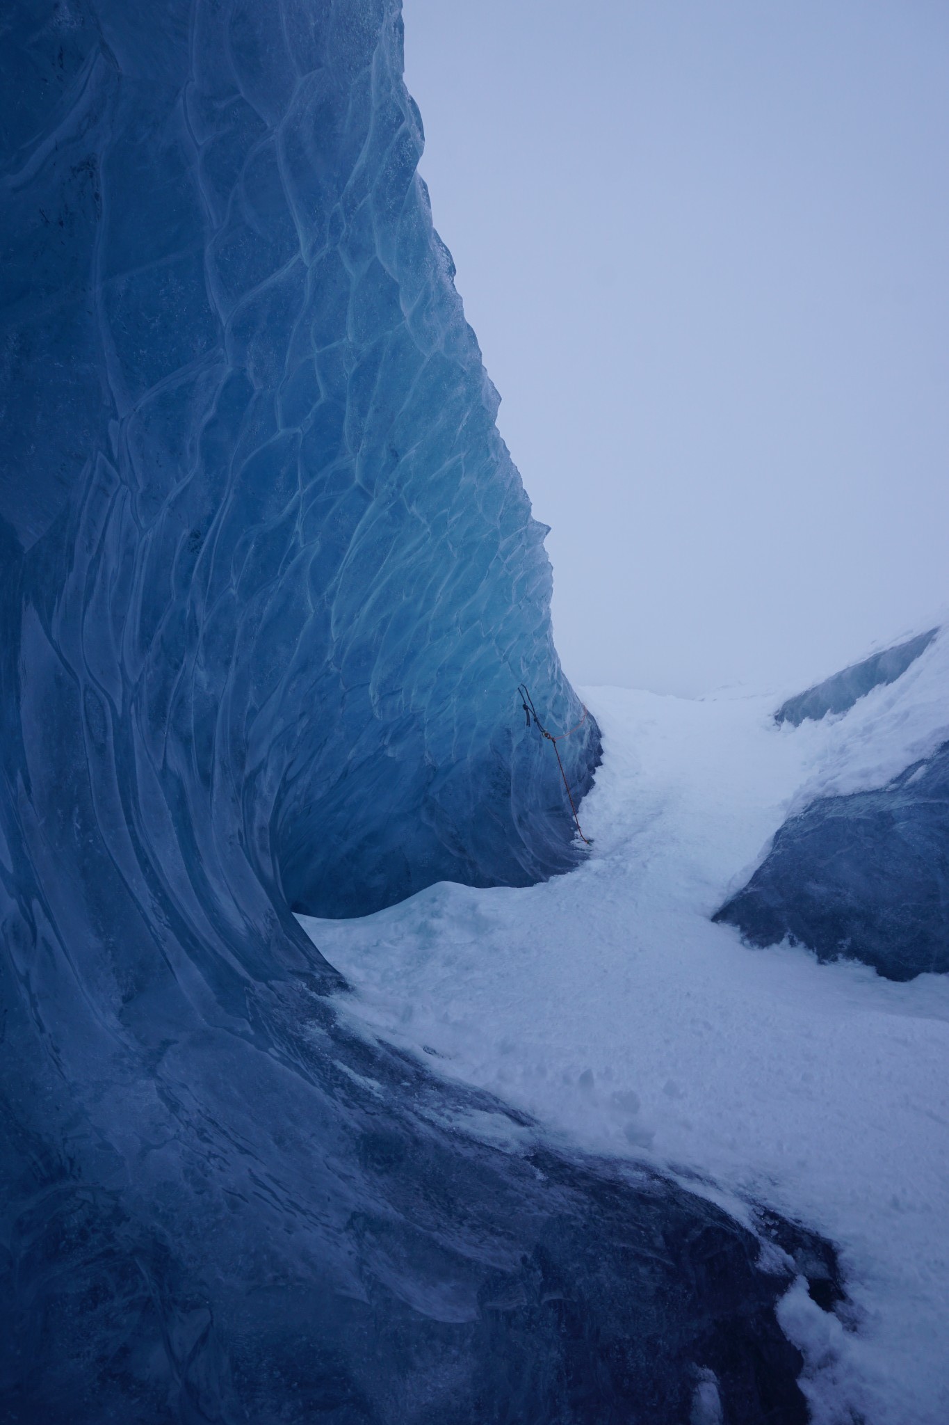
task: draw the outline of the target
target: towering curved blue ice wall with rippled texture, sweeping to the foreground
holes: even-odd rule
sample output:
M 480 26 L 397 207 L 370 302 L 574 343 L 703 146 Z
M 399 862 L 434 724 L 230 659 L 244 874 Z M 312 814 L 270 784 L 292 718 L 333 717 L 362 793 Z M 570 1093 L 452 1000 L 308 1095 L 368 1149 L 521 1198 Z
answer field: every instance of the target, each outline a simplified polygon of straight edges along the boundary
M 0 64 L 6 1415 L 802 1422 L 753 1233 L 356 1039 L 290 913 L 575 855 L 397 4 L 14 0 Z

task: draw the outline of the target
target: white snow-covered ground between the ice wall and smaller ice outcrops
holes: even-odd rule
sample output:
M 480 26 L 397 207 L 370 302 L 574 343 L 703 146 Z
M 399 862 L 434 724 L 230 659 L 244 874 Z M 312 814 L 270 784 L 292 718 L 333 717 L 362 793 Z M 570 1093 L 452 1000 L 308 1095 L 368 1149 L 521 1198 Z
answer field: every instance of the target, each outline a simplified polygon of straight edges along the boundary
M 949 985 L 748 949 L 709 918 L 791 809 L 882 785 L 949 738 L 948 690 L 945 634 L 898 683 L 798 728 L 775 727 L 775 697 L 590 688 L 605 757 L 576 871 L 300 918 L 354 986 L 337 1006 L 363 1033 L 561 1147 L 832 1240 L 844 1320 L 800 1281 L 780 1308 L 824 1425 L 949 1422 Z

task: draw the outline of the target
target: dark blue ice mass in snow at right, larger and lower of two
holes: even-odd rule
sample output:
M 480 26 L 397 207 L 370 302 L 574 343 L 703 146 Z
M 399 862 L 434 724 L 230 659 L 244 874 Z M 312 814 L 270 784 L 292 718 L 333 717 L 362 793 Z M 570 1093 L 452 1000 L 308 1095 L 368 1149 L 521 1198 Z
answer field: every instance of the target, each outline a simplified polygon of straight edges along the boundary
M 886 787 L 790 818 L 716 919 L 753 945 L 788 936 L 888 979 L 949 970 L 949 742 Z

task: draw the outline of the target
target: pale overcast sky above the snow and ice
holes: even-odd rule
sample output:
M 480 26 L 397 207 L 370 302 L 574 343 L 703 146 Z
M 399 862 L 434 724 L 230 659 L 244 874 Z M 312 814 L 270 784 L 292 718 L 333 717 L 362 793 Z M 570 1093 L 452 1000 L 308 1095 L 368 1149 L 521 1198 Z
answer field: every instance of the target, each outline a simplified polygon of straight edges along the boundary
M 566 671 L 791 691 L 949 601 L 949 4 L 404 0 Z

